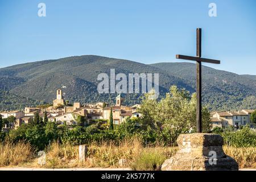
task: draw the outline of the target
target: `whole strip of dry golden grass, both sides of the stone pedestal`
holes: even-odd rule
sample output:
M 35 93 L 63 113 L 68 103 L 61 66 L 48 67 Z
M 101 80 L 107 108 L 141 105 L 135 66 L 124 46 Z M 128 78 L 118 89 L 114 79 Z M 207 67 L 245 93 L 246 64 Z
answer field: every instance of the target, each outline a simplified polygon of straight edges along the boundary
M 224 146 L 227 155 L 237 160 L 240 168 L 256 168 L 256 148 L 235 148 Z M 77 168 L 129 167 L 136 170 L 159 170 L 165 159 L 170 158 L 177 151 L 177 147 L 163 147 L 156 144 L 154 147 L 143 147 L 139 140 L 124 140 L 119 144 L 103 143 L 90 144 L 87 158 L 79 162 L 79 146 L 59 144 L 53 142 L 46 149 L 46 165 L 43 168 Z M 122 166 L 120 159 L 125 159 Z M 0 143 L 0 167 L 41 167 L 35 150 L 24 142 L 13 144 Z

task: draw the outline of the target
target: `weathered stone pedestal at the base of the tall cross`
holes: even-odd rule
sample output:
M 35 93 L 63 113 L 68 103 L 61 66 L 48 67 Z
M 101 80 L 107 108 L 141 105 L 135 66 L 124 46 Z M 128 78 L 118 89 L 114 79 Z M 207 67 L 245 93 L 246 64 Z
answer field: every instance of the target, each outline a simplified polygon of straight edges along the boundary
M 236 160 L 222 149 L 223 139 L 217 134 L 181 134 L 179 150 L 162 165 L 162 171 L 225 171 L 238 170 Z

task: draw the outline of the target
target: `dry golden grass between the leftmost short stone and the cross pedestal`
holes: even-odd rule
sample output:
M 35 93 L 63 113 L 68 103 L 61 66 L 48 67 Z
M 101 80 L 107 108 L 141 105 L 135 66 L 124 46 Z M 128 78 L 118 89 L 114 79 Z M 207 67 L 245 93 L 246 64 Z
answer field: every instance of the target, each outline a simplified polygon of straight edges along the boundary
M 160 166 L 162 162 L 170 158 L 177 151 L 177 147 L 143 147 L 138 139 L 124 140 L 120 144 L 113 142 L 105 142 L 100 145 L 92 143 L 88 146 L 86 160 L 80 163 L 78 158 L 78 146 L 70 144 L 61 145 L 52 143 L 47 152 L 46 167 L 51 168 L 70 168 L 70 167 L 120 167 L 118 162 L 120 159 L 125 159 L 126 163 L 122 167 L 138 166 L 137 163 L 143 166 L 142 163 L 147 163 L 147 159 L 151 160 L 152 165 L 144 165 L 142 168 L 136 169 L 154 169 Z M 139 160 L 142 158 L 143 160 Z

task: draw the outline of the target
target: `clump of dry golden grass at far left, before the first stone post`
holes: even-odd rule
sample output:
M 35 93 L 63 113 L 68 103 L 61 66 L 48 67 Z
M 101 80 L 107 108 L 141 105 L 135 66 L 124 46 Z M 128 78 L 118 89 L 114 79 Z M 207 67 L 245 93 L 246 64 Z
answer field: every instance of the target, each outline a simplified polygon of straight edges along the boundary
M 14 144 L 10 141 L 0 143 L 0 167 L 17 166 L 29 162 L 34 158 L 34 154 L 34 150 L 28 143 Z

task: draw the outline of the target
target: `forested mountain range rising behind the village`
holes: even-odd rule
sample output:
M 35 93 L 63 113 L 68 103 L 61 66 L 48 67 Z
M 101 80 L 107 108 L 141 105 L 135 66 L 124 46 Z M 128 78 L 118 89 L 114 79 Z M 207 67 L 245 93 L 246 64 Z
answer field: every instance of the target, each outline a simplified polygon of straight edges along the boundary
M 142 64 L 135 61 L 85 55 L 36 61 L 0 68 L 0 110 L 22 109 L 52 103 L 56 89 L 64 99 L 82 104 L 114 103 L 117 94 L 98 94 L 97 76 L 125 73 L 159 73 L 161 96 L 171 85 L 195 92 L 196 65 L 193 63 Z M 210 110 L 256 109 L 256 76 L 237 75 L 202 67 L 202 96 Z M 125 94 L 126 105 L 139 103 L 141 94 Z

